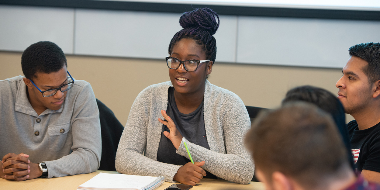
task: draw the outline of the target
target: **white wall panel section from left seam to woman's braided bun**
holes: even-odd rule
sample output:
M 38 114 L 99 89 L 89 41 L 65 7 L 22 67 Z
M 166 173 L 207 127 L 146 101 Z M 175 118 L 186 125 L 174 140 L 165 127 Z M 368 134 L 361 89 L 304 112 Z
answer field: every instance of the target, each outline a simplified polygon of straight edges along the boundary
M 180 15 L 79 9 L 75 54 L 165 59 Z

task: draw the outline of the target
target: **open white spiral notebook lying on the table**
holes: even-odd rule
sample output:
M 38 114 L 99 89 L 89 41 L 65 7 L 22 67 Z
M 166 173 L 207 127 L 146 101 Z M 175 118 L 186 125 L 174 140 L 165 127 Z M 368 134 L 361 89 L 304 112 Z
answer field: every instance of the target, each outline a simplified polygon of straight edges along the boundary
M 165 177 L 133 176 L 127 174 L 100 173 L 79 185 L 77 190 L 154 190 Z

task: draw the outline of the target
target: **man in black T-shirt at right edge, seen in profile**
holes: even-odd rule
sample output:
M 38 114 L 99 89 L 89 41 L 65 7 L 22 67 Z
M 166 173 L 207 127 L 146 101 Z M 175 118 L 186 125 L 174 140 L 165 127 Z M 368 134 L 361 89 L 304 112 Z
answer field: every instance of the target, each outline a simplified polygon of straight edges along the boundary
M 355 120 L 347 124 L 358 172 L 380 183 L 380 44 L 357 44 L 336 83 L 345 112 Z

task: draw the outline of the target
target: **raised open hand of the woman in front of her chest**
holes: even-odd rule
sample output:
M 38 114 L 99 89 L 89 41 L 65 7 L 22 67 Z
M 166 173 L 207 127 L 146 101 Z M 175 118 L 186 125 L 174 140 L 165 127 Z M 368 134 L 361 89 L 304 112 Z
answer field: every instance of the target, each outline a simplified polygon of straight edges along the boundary
M 169 128 L 170 133 L 168 131 L 164 131 L 164 135 L 173 143 L 174 147 L 176 149 L 179 149 L 179 145 L 182 141 L 182 135 L 179 133 L 179 131 L 176 128 L 176 124 L 174 124 L 173 120 L 166 114 L 166 111 L 161 110 L 162 116 L 164 116 L 165 120 L 162 120 L 158 118 L 158 121 L 162 124 L 166 125 L 166 127 Z

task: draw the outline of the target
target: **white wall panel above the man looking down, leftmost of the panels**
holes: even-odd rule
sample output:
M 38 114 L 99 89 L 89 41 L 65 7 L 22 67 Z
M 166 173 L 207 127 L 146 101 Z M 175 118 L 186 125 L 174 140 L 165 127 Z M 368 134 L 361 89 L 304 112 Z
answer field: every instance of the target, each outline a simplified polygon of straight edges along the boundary
M 24 51 L 52 41 L 73 53 L 74 9 L 0 5 L 0 50 Z

